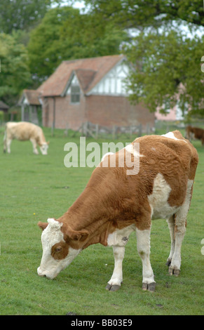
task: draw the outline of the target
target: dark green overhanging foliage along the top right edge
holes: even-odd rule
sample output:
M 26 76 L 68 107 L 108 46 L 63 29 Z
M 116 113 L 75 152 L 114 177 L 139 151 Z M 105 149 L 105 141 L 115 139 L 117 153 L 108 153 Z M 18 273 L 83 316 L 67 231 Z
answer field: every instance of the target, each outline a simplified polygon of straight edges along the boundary
M 90 5 L 90 11 L 126 28 L 158 26 L 172 20 L 204 26 L 200 0 L 85 0 L 85 3 Z

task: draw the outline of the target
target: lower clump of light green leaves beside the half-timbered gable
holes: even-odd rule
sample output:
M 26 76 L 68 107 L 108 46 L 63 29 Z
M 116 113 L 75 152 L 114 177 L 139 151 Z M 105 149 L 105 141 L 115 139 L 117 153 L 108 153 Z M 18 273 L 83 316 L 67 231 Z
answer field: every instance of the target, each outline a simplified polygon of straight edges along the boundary
M 134 46 L 124 49 L 134 67 L 127 81 L 130 100 L 144 102 L 151 111 L 158 106 L 165 112 L 177 102 L 183 111 L 203 109 L 203 41 L 175 31 L 136 37 Z

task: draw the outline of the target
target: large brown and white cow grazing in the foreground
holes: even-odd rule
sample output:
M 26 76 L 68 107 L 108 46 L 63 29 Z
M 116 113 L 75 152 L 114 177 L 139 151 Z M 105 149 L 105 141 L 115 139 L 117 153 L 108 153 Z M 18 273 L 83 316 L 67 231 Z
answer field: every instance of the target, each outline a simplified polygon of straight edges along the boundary
M 186 216 L 191 202 L 198 154 L 179 131 L 164 136 L 137 138 L 116 154 L 109 154 L 93 171 L 85 190 L 63 216 L 47 223 L 39 222 L 43 232 L 43 256 L 37 272 L 49 279 L 90 244 L 112 246 L 114 272 L 107 290 L 116 291 L 123 281 L 122 263 L 125 244 L 132 231 L 137 236 L 137 251 L 142 258 L 142 289 L 154 291 L 156 283 L 149 260 L 151 220 L 168 221 L 171 249 L 168 256 L 170 275 L 179 275 L 181 247 L 186 230 Z M 140 159 L 140 171 L 127 175 L 130 167 L 121 159 Z M 116 157 L 116 166 L 103 162 Z M 107 165 L 107 164 L 106 164 Z

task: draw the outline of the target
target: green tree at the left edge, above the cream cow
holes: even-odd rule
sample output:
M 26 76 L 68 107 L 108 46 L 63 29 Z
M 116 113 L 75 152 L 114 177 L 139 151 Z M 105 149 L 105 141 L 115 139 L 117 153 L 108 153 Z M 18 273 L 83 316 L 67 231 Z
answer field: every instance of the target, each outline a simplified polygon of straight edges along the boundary
M 13 105 L 20 91 L 31 83 L 25 46 L 11 35 L 0 34 L 0 98 Z

